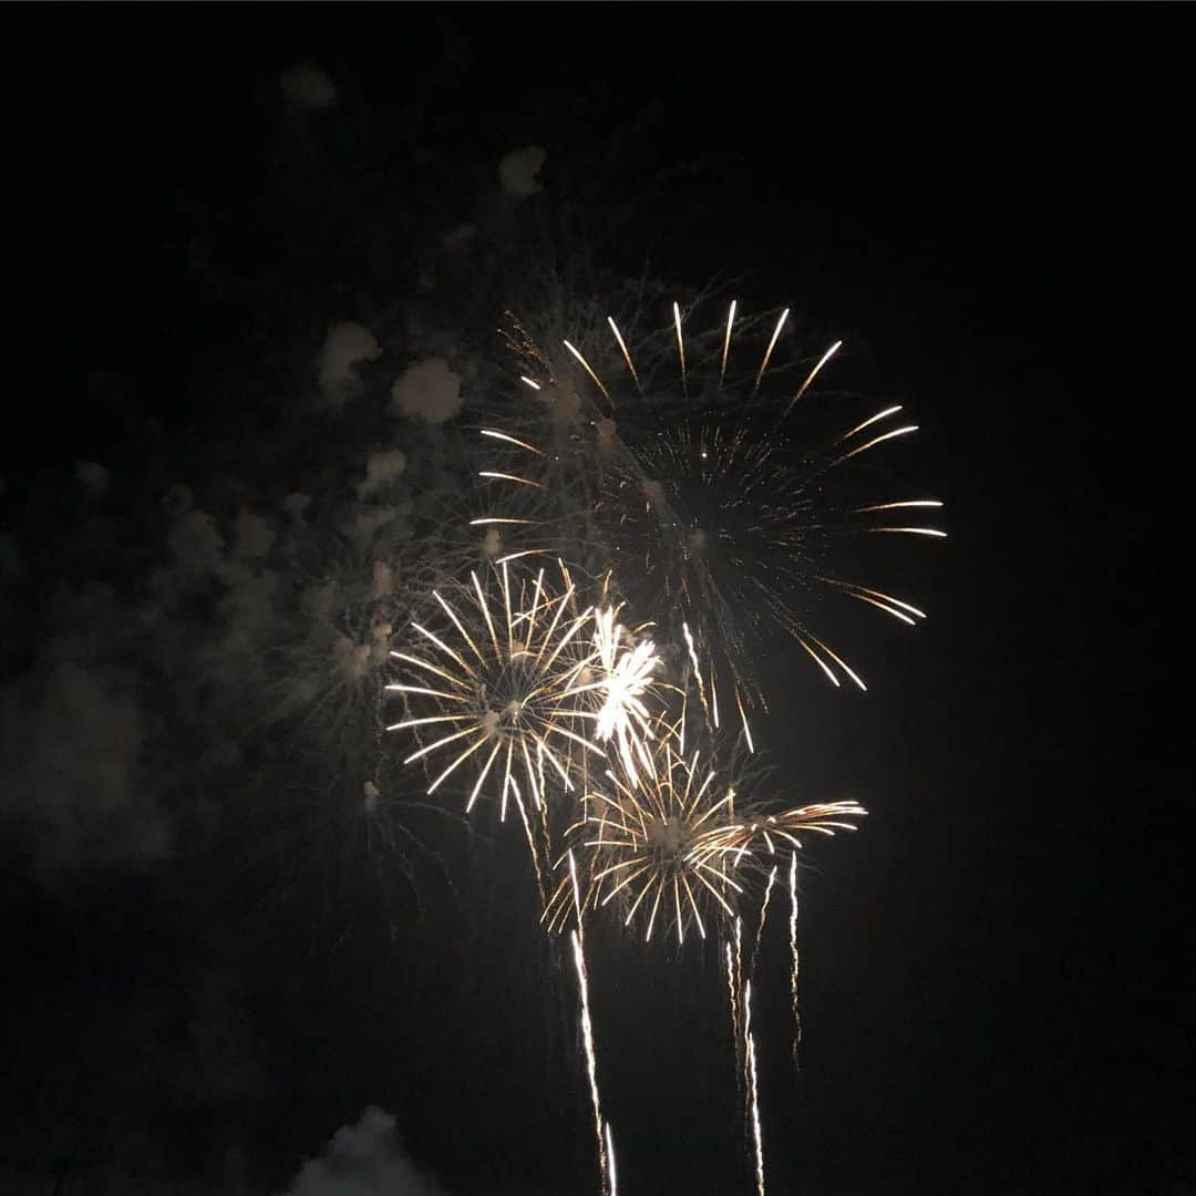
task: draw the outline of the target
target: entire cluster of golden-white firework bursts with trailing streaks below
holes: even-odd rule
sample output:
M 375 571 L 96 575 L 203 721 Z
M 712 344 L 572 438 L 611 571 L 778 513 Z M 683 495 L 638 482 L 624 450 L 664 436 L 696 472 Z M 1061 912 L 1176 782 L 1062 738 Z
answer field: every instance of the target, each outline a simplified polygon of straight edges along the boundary
M 719 941 L 764 1196 L 752 989 L 774 889 L 785 869 L 797 1061 L 798 855 L 813 836 L 856 829 L 866 811 L 787 807 L 763 783 L 750 718 L 767 709 L 761 647 L 783 634 L 834 685 L 865 689 L 814 629 L 820 604 L 835 596 L 907 626 L 925 618 L 844 557 L 877 537 L 942 537 L 919 518 L 941 504 L 861 488 L 861 463 L 917 428 L 890 405 L 836 414 L 829 431 L 810 409 L 840 344 L 788 364 L 788 310 L 749 319 L 731 303 L 697 335 L 676 303 L 655 332 L 578 311 L 548 312 L 536 332 L 508 313 L 500 329 L 511 386 L 494 389 L 463 447 L 472 490 L 451 517 L 429 517 L 441 529 L 427 538 L 433 617 L 413 621 L 411 642 L 390 653 L 401 676 L 388 689 L 403 714 L 388 730 L 416 739 L 404 763 L 427 770 L 429 794 L 451 782 L 466 812 L 483 795 L 501 818 L 518 810 L 542 922 L 572 945 L 609 1196 L 615 1143 L 598 1088 L 587 921 L 609 911 L 646 942 Z M 688 730 L 687 709 L 700 709 Z

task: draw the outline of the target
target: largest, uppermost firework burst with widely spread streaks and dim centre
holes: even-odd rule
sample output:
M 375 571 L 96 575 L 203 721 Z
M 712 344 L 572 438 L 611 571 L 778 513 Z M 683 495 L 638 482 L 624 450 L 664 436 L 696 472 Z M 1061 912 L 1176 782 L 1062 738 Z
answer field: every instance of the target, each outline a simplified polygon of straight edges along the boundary
M 925 617 L 903 599 L 849 580 L 837 561 L 841 551 L 877 532 L 944 535 L 904 518 L 940 507 L 936 500 L 861 502 L 850 496 L 856 478 L 848 477 L 848 466 L 916 431 L 893 426 L 899 407 L 856 421 L 813 448 L 794 431 L 793 409 L 838 344 L 800 380 L 783 383 L 777 396 L 792 373 L 773 364 L 788 315 L 786 310 L 771 323 L 763 350 L 750 359 L 736 335 L 746 337 L 751 327 L 737 322 L 734 303 L 716 336 L 689 338 L 673 304 L 671 358 L 663 354 L 659 337 L 645 338 L 645 358 L 633 354 L 609 319 L 603 370 L 566 342 L 573 378 L 545 373 L 523 379 L 532 393 L 588 388 L 581 405 L 594 413 L 585 421 L 585 543 L 602 547 L 640 610 L 667 633 L 684 636 L 708 722 L 720 726 L 721 707 L 731 703 L 749 739 L 748 710 L 764 704 L 752 652 L 776 633 L 792 636 L 835 685 L 846 677 L 865 688 L 812 629 L 823 597 L 843 594 L 909 624 Z M 758 322 L 752 327 L 758 329 Z M 533 368 L 560 370 L 545 354 L 521 352 Z M 537 459 L 547 453 L 531 440 L 511 440 L 525 453 L 523 476 L 549 489 L 537 472 Z

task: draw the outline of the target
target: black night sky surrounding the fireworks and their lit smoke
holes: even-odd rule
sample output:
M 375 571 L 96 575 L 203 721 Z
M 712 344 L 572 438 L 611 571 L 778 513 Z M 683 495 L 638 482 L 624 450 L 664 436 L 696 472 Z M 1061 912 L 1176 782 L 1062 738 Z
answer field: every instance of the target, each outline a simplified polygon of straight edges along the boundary
M 184 584 L 177 547 L 185 502 L 230 561 L 238 517 L 282 527 L 292 492 L 356 511 L 376 448 L 416 499 L 439 484 L 454 421 L 371 403 L 438 344 L 463 373 L 496 354 L 542 257 L 599 304 L 718 276 L 792 305 L 804 352 L 844 340 L 837 385 L 905 404 L 893 468 L 947 502 L 945 544 L 889 562 L 925 626 L 828 608 L 867 694 L 765 653 L 776 777 L 871 811 L 803 880 L 797 1075 L 765 941 L 769 1190 L 1196 1191 L 1168 18 L 10 14 L 0 1188 L 597 1191 L 574 978 L 518 834 L 413 805 L 397 769 L 365 812 L 353 749 L 309 750 L 327 712 L 263 730 L 303 646 L 248 591 Z M 527 146 L 518 197 L 499 164 Z M 337 414 L 317 374 L 343 321 L 384 352 Z M 752 1191 L 716 952 L 591 950 L 620 1191 Z M 390 1171 L 300 1183 L 371 1106 Z

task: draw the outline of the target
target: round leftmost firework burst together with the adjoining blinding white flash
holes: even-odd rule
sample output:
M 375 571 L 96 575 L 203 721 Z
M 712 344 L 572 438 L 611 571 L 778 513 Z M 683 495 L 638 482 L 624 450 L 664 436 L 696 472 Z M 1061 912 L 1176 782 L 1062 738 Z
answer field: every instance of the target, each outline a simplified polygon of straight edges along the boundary
M 502 562 L 484 576 L 472 572 L 447 599 L 433 591 L 440 626 L 413 622 L 419 648 L 391 652 L 411 681 L 388 688 L 411 712 L 388 730 L 431 737 L 404 763 L 447 761 L 428 793 L 472 762 L 466 811 L 489 783 L 505 817 L 508 801 L 538 810 L 551 785 L 573 789 L 582 758 L 604 758 L 603 740 L 626 759 L 643 755 L 637 737 L 647 731 L 655 658 L 616 610 L 581 609 L 560 562 L 551 573 Z

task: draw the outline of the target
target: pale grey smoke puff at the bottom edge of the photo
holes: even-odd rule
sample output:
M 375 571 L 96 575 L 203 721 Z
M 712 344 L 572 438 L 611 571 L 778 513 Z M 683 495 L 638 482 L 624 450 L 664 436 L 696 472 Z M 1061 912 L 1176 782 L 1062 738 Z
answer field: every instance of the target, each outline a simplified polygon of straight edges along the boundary
M 445 1196 L 395 1134 L 395 1118 L 371 1105 L 356 1125 L 343 1125 L 318 1159 L 303 1165 L 282 1196 Z

